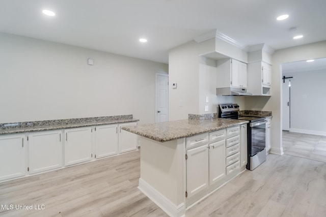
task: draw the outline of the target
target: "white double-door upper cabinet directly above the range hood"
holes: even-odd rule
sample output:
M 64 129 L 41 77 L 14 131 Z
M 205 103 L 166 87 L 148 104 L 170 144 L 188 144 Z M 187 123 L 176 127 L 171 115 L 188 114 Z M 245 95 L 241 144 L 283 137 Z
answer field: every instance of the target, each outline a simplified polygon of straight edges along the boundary
M 218 88 L 247 88 L 247 64 L 235 59 L 219 59 L 216 61 L 218 71 Z

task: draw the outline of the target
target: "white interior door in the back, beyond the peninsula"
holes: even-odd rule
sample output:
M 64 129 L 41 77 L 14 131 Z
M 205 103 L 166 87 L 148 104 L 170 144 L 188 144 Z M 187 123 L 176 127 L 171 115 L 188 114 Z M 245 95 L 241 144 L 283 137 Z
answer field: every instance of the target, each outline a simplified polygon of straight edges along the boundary
M 156 74 L 156 122 L 169 120 L 169 75 Z

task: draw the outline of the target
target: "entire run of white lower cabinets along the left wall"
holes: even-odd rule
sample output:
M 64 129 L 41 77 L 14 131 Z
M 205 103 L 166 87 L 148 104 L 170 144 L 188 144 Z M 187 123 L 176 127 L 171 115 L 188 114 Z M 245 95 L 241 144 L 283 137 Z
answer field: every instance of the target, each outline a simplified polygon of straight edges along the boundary
M 0 181 L 137 150 L 137 122 L 0 135 Z

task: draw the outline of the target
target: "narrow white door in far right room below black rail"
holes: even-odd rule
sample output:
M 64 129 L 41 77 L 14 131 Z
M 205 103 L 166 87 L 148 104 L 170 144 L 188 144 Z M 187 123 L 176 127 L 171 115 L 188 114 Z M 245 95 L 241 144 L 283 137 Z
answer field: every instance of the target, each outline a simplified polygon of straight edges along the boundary
M 283 84 L 283 128 L 282 130 L 290 130 L 290 80 L 285 80 Z

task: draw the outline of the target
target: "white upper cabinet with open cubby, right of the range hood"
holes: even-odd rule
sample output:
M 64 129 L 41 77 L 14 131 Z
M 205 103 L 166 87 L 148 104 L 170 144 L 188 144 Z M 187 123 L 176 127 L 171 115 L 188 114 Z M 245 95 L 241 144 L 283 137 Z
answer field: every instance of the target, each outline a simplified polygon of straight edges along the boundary
M 257 96 L 270 96 L 271 66 L 263 61 L 248 64 L 248 91 Z

